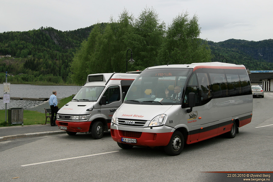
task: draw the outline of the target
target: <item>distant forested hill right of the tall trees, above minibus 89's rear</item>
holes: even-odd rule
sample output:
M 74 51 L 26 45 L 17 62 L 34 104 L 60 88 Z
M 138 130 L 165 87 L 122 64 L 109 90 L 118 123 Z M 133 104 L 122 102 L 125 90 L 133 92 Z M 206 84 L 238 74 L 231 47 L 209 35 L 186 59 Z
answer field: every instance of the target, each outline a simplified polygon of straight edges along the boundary
M 257 42 L 229 39 L 208 44 L 214 55 L 212 61 L 221 62 L 225 58 L 228 63 L 243 64 L 249 70 L 273 69 L 273 39 Z

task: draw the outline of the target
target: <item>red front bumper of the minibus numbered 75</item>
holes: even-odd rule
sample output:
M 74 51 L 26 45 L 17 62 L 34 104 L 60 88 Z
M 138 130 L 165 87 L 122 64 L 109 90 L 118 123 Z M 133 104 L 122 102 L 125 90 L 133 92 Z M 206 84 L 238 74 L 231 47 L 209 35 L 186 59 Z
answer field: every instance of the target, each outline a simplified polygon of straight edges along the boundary
M 91 121 L 86 122 L 65 122 L 56 120 L 56 125 L 66 126 L 67 130 L 71 132 L 88 132 L 90 128 Z

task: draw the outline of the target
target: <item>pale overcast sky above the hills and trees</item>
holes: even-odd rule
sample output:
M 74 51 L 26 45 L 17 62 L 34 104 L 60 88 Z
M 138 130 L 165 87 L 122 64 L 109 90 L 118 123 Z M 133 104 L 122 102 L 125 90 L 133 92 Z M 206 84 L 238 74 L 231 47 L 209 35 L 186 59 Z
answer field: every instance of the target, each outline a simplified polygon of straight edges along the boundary
M 0 0 L 0 33 L 53 27 L 67 31 L 118 20 L 126 9 L 137 18 L 153 8 L 170 25 L 179 13 L 199 18 L 200 38 L 272 39 L 273 0 Z

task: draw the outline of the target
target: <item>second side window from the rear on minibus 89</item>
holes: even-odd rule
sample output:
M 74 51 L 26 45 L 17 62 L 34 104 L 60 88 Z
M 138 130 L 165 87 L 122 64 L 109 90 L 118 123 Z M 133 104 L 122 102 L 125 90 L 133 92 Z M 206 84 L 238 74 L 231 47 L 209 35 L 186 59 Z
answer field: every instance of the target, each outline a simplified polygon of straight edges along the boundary
M 242 95 L 240 78 L 237 69 L 225 69 L 229 96 Z

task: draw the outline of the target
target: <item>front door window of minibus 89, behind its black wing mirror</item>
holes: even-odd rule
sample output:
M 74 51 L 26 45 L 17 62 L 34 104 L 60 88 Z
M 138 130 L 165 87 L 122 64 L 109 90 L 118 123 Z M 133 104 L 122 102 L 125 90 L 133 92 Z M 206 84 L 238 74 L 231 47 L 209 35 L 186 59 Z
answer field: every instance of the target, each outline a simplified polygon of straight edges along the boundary
M 186 89 L 185 97 L 183 99 L 184 100 L 183 104 L 185 105 L 185 107 L 187 107 L 189 93 L 191 92 L 195 93 L 195 106 L 200 105 L 199 88 L 197 86 L 197 78 L 195 73 L 190 78 L 190 81 Z

